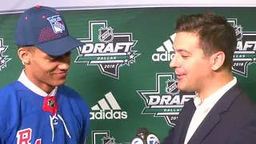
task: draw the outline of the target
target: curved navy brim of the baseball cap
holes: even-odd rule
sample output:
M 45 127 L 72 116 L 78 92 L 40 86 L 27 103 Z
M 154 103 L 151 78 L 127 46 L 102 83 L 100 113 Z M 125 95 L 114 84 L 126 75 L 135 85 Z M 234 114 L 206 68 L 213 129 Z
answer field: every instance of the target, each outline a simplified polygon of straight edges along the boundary
M 35 46 L 46 54 L 58 56 L 66 54 L 70 50 L 82 45 L 82 42 L 80 42 L 78 39 L 68 35 L 64 38 L 55 39 L 53 41 L 41 43 Z

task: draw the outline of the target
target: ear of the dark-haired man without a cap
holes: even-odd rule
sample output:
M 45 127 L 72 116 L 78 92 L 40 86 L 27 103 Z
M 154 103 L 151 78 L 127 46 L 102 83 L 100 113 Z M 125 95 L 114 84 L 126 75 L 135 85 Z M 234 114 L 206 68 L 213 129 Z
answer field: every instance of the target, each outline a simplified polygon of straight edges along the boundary
M 211 56 L 211 69 L 216 71 L 220 67 L 222 67 L 224 61 L 225 61 L 225 54 L 222 51 L 218 51 L 217 53 L 213 54 Z

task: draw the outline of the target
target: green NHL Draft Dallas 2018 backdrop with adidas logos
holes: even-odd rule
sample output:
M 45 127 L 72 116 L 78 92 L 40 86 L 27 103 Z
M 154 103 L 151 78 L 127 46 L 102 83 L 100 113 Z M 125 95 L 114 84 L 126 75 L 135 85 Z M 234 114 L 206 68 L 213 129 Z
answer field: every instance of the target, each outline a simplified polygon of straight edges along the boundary
M 234 26 L 234 76 L 255 100 L 254 8 L 138 8 L 63 11 L 70 34 L 84 42 L 72 51 L 66 85 L 90 106 L 91 144 L 130 142 L 142 126 L 162 140 L 194 93 L 176 87 L 172 58 L 175 19 L 213 11 Z M 0 87 L 16 80 L 22 63 L 14 46 L 18 14 L 0 15 Z M 200 73 L 200 70 L 198 70 Z M 214 84 L 213 84 L 214 85 Z

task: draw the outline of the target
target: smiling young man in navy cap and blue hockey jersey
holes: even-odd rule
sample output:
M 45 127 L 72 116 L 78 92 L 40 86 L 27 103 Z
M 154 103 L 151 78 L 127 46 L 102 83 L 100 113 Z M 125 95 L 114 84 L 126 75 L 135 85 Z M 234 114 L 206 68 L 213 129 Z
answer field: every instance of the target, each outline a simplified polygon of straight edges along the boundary
M 62 15 L 46 6 L 20 15 L 15 43 L 25 69 L 0 90 L 0 143 L 85 143 L 89 109 L 64 86 L 70 50 L 82 43 L 69 35 Z

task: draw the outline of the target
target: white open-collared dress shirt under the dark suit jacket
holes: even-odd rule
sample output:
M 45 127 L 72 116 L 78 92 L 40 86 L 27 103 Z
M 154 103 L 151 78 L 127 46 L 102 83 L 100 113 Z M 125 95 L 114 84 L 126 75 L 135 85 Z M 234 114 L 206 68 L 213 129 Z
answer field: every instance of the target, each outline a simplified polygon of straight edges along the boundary
M 184 144 L 187 144 L 187 142 L 189 142 L 195 130 L 198 129 L 198 126 L 201 124 L 203 119 L 206 118 L 206 115 L 210 112 L 211 108 L 216 104 L 216 102 L 218 102 L 218 100 L 222 98 L 223 94 L 225 94 L 226 91 L 230 90 L 230 88 L 236 83 L 237 78 L 234 77 L 231 82 L 227 83 L 221 89 L 214 92 L 214 94 L 211 94 L 208 98 L 204 100 L 204 102 L 201 102 L 201 98 L 198 94 L 194 96 L 194 106 L 196 106 L 196 110 L 194 112 L 193 118 L 191 119 L 190 126 L 187 130 Z

